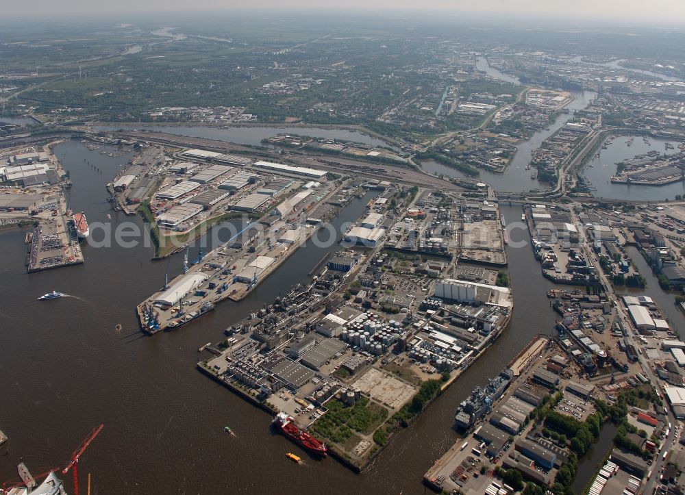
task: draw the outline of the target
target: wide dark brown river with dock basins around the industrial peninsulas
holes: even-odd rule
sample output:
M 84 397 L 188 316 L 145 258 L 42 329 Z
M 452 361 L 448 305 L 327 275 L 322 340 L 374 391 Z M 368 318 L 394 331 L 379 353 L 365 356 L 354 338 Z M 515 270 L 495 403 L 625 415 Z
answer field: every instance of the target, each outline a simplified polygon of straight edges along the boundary
M 126 157 L 106 157 L 77 141 L 55 151 L 73 179 L 71 207 L 86 212 L 91 223 L 104 222 L 110 212 L 105 183 Z M 358 218 L 369 197 L 353 201 L 335 223 Z M 511 225 L 521 215 L 520 207 L 503 205 L 502 212 Z M 124 219 L 142 227 L 137 217 L 112 212 L 115 225 Z M 164 280 L 166 263 L 151 262 L 151 248 L 86 245 L 82 266 L 27 275 L 24 235 L 25 229 L 0 233 L 0 390 L 11 405 L 0 424 L 10 436 L 0 479 L 16 476 L 20 456 L 35 472 L 62 464 L 103 422 L 105 429 L 79 463 L 82 480 L 92 473 L 97 494 L 301 494 L 315 486 L 330 494 L 422 493 L 423 473 L 457 439 L 451 429 L 456 405 L 536 333 L 549 333 L 555 320 L 545 297 L 553 285 L 541 277 L 530 246 L 508 248 L 512 322 L 458 383 L 396 435 L 363 474 L 308 456 L 303 466 L 292 466 L 284 453 L 299 452 L 297 447 L 270 431 L 268 414 L 197 372 L 197 348 L 218 342 L 225 327 L 306 279 L 325 249 L 308 243 L 244 301 L 225 301 L 197 322 L 149 338 L 139 331 L 134 308 Z M 529 240 L 523 229 L 510 238 Z M 171 276 L 181 264 L 181 255 L 171 258 Z M 70 297 L 36 301 L 53 289 Z M 119 333 L 116 324 L 123 326 Z M 225 424 L 236 437 L 223 433 Z

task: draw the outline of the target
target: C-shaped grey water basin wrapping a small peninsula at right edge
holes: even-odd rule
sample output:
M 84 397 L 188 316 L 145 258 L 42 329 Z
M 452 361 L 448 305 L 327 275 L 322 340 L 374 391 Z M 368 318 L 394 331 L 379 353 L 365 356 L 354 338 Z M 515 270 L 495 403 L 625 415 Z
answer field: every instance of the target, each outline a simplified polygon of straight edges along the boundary
M 628 146 L 627 140 L 634 138 Z M 589 179 L 595 187 L 593 196 L 607 199 L 626 199 L 633 201 L 661 201 L 674 199 L 676 194 L 685 194 L 685 183 L 682 181 L 665 184 L 664 186 L 636 186 L 618 184 L 610 181 L 616 174 L 616 164 L 623 162 L 636 155 L 644 155 L 649 151 L 658 151 L 661 155 L 674 155 L 680 153 L 677 141 L 647 138 L 649 144 L 643 141 L 642 136 L 616 136 L 611 144 L 606 144 L 607 149 L 599 150 L 599 157 L 593 157 L 584 167 L 582 175 Z M 674 149 L 666 149 L 665 144 L 671 142 Z

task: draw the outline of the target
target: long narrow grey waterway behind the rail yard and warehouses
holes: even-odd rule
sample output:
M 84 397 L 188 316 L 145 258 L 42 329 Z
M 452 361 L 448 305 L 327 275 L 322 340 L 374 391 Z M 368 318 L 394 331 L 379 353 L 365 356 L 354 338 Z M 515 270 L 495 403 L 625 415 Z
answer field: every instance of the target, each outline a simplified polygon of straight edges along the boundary
M 323 127 L 208 127 L 208 126 L 184 126 L 184 125 L 159 125 L 148 123 L 116 123 L 96 125 L 95 129 L 112 131 L 116 129 L 145 129 L 154 132 L 166 132 L 177 136 L 190 136 L 192 138 L 216 139 L 221 141 L 247 144 L 249 146 L 264 146 L 262 139 L 273 138 L 278 134 L 298 134 L 299 136 L 312 136 L 312 138 L 342 139 L 346 141 L 362 142 L 378 147 L 392 147 L 383 140 L 373 138 L 358 131 L 347 129 L 325 129 Z

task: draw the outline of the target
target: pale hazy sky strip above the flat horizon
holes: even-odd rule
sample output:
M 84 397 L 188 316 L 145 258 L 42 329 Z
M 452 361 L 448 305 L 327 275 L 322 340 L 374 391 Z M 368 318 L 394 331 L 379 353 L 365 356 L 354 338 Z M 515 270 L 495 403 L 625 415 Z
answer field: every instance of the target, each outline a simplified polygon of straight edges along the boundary
M 547 16 L 685 23 L 685 0 L 8 0 L 3 14 L 65 12 L 142 12 L 151 10 L 307 9 L 307 10 L 451 10 L 519 12 Z

